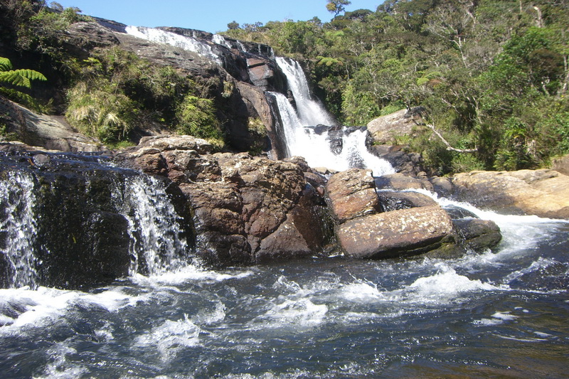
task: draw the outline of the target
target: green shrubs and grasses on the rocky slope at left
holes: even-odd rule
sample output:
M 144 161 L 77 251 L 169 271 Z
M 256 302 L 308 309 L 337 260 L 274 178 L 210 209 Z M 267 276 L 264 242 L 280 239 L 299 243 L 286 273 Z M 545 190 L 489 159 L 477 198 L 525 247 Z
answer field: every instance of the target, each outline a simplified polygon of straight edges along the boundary
M 50 6 L 41 0 L 2 2 L 0 22 L 11 33 L 0 38 L 39 67 L 53 71 L 61 91 L 55 95 L 64 100 L 56 106 L 65 109 L 70 124 L 108 146 L 125 146 L 137 129 L 160 124 L 223 148 L 224 136 L 214 102 L 206 95 L 207 83 L 198 84 L 174 68 L 153 65 L 116 47 L 90 49 L 88 58 L 78 58 L 65 46 L 65 31 L 73 23 L 92 19 L 77 8 Z M 26 80 L 45 79 L 34 70 L 8 69 L 9 60 L 0 60 L 0 70 L 6 71 L 0 73 L 0 81 L 27 85 Z M 230 94 L 230 83 L 226 87 Z

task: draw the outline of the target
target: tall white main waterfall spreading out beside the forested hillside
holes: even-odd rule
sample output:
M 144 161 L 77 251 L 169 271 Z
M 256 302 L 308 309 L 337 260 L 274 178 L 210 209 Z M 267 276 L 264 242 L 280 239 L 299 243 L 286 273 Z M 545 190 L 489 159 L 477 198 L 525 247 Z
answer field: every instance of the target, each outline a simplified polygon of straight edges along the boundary
M 365 128 L 325 127 L 333 125 L 334 121 L 321 103 L 310 95 L 307 78 L 299 63 L 282 57 L 276 60 L 287 77 L 297 106 L 294 110 L 285 95 L 267 92 L 267 96 L 275 99 L 289 156 L 303 156 L 309 166 L 337 171 L 357 167 L 371 169 L 373 176 L 395 172 L 388 161 L 368 151 Z

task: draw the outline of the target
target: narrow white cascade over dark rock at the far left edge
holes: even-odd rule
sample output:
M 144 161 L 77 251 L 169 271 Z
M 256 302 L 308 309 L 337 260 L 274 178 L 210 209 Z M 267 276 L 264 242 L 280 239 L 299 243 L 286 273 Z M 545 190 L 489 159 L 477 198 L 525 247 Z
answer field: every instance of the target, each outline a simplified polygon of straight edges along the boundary
M 23 171 L 7 172 L 0 181 L 0 253 L 4 255 L 0 255 L 0 269 L 4 263 L 5 287 L 37 287 L 35 203 L 33 176 Z

